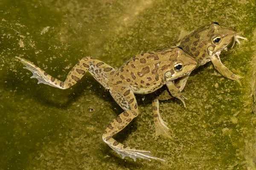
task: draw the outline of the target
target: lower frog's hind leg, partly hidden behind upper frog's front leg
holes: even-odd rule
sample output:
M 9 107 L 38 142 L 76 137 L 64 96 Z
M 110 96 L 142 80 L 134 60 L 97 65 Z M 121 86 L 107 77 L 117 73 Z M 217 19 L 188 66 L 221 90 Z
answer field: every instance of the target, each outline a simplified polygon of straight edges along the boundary
M 181 77 L 175 82 L 175 86 L 180 91 L 182 91 L 186 85 L 186 81 L 188 78 L 189 78 L 189 74 L 184 77 Z M 157 137 L 160 135 L 166 136 L 168 138 L 172 138 L 172 136 L 169 133 L 170 129 L 169 127 L 167 127 L 167 123 L 163 121 L 162 116 L 159 112 L 159 100 L 167 100 L 171 98 L 173 98 L 173 96 L 170 94 L 168 89 L 166 89 L 152 101 L 154 124 L 155 124 L 155 130 L 156 130 L 155 139 L 157 139 Z

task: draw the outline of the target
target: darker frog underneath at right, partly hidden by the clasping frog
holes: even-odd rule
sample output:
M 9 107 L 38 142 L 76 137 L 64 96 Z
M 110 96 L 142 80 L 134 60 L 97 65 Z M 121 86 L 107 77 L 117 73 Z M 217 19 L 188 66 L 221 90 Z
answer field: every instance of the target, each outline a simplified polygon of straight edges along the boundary
M 240 76 L 233 74 L 225 65 L 222 64 L 220 59 L 221 51 L 233 48 L 237 42 L 241 44 L 239 39 L 247 40 L 247 38 L 241 37 L 232 28 L 221 26 L 217 22 L 213 22 L 206 26 L 193 31 L 191 34 L 185 36 L 180 40 L 178 45 L 183 50 L 191 55 L 197 61 L 197 68 L 207 62 L 212 62 L 215 69 L 224 77 L 235 80 L 241 85 Z M 186 81 L 189 78 L 189 74 L 176 79 L 175 86 L 182 91 L 186 85 Z M 159 112 L 159 100 L 166 100 L 172 98 L 172 95 L 167 90 L 161 91 L 160 95 L 152 101 L 154 123 L 155 123 L 155 139 L 158 136 L 163 135 L 169 138 L 173 138 L 169 133 L 169 127 L 167 123 L 163 121 Z

